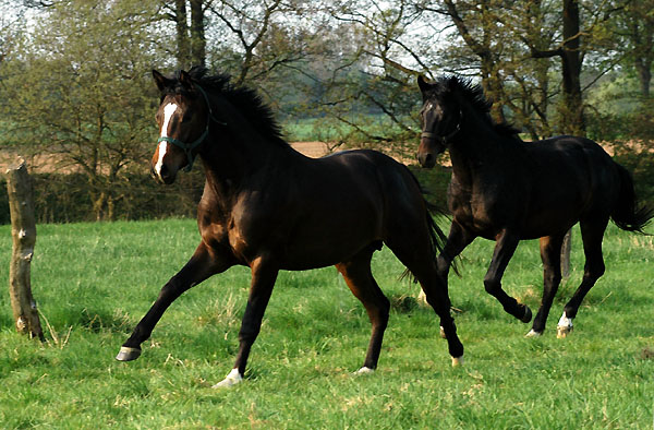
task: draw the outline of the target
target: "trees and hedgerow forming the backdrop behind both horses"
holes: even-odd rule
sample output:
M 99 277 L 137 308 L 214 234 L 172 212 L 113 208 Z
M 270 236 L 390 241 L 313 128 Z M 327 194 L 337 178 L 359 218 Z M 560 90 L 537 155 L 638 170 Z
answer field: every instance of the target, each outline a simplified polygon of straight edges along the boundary
M 605 142 L 654 200 L 653 61 L 654 0 L 0 0 L 0 151 L 56 172 L 35 177 L 41 222 L 190 215 L 201 171 L 147 178 L 152 69 L 230 73 L 290 140 L 404 157 L 416 76 L 458 73 L 525 140 Z M 446 175 L 420 174 L 443 200 Z

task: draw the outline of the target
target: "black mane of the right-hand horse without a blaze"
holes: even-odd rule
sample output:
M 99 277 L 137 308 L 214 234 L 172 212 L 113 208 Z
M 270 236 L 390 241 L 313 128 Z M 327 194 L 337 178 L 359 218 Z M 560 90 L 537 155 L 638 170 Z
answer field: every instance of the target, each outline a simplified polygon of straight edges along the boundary
M 473 84 L 469 79 L 459 76 L 444 76 L 436 80 L 433 85 L 434 95 L 440 100 L 449 100 L 451 96 L 458 94 L 465 99 L 470 106 L 480 112 L 481 117 L 487 121 L 493 130 L 502 136 L 517 138 L 520 131 L 508 122 L 495 122 L 491 118 L 491 107 L 493 101 L 486 98 L 484 88 L 479 84 Z

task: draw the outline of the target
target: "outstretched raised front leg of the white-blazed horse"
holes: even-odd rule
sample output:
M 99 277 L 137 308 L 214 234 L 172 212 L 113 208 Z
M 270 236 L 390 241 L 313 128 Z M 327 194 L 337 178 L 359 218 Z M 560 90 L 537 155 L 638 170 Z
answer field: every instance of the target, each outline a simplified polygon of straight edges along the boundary
M 231 259 L 227 255 L 219 255 L 215 250 L 209 250 L 204 242 L 201 242 L 184 267 L 161 288 L 159 297 L 138 322 L 130 338 L 120 348 L 116 359 L 119 361 L 137 359 L 141 356 L 141 344 L 150 336 L 155 325 L 170 303 L 189 288 L 202 283 L 211 275 L 225 272 L 232 265 Z

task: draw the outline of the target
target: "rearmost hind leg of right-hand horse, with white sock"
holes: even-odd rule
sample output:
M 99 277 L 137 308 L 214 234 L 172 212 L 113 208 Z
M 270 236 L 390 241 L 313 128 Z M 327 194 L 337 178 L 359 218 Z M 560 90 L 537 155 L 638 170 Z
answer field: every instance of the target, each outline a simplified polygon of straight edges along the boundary
M 583 240 L 583 252 L 586 261 L 583 267 L 583 278 L 581 285 L 574 291 L 574 295 L 564 307 L 564 314 L 558 322 L 557 337 L 566 337 L 572 331 L 572 319 L 577 316 L 577 311 L 585 295 L 593 288 L 593 285 L 604 274 L 604 256 L 602 255 L 602 240 L 604 230 L 608 224 L 608 218 L 594 222 L 582 220 L 579 223 L 581 228 L 581 238 Z

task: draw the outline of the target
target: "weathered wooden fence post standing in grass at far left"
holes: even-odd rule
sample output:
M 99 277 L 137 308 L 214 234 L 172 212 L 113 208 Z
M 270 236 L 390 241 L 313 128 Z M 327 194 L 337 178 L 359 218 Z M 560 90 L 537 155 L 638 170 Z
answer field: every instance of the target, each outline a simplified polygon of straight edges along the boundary
M 44 339 L 36 301 L 32 296 L 31 263 L 36 243 L 32 180 L 25 162 L 19 158 L 7 169 L 9 212 L 13 249 L 9 266 L 9 295 L 19 333 Z

